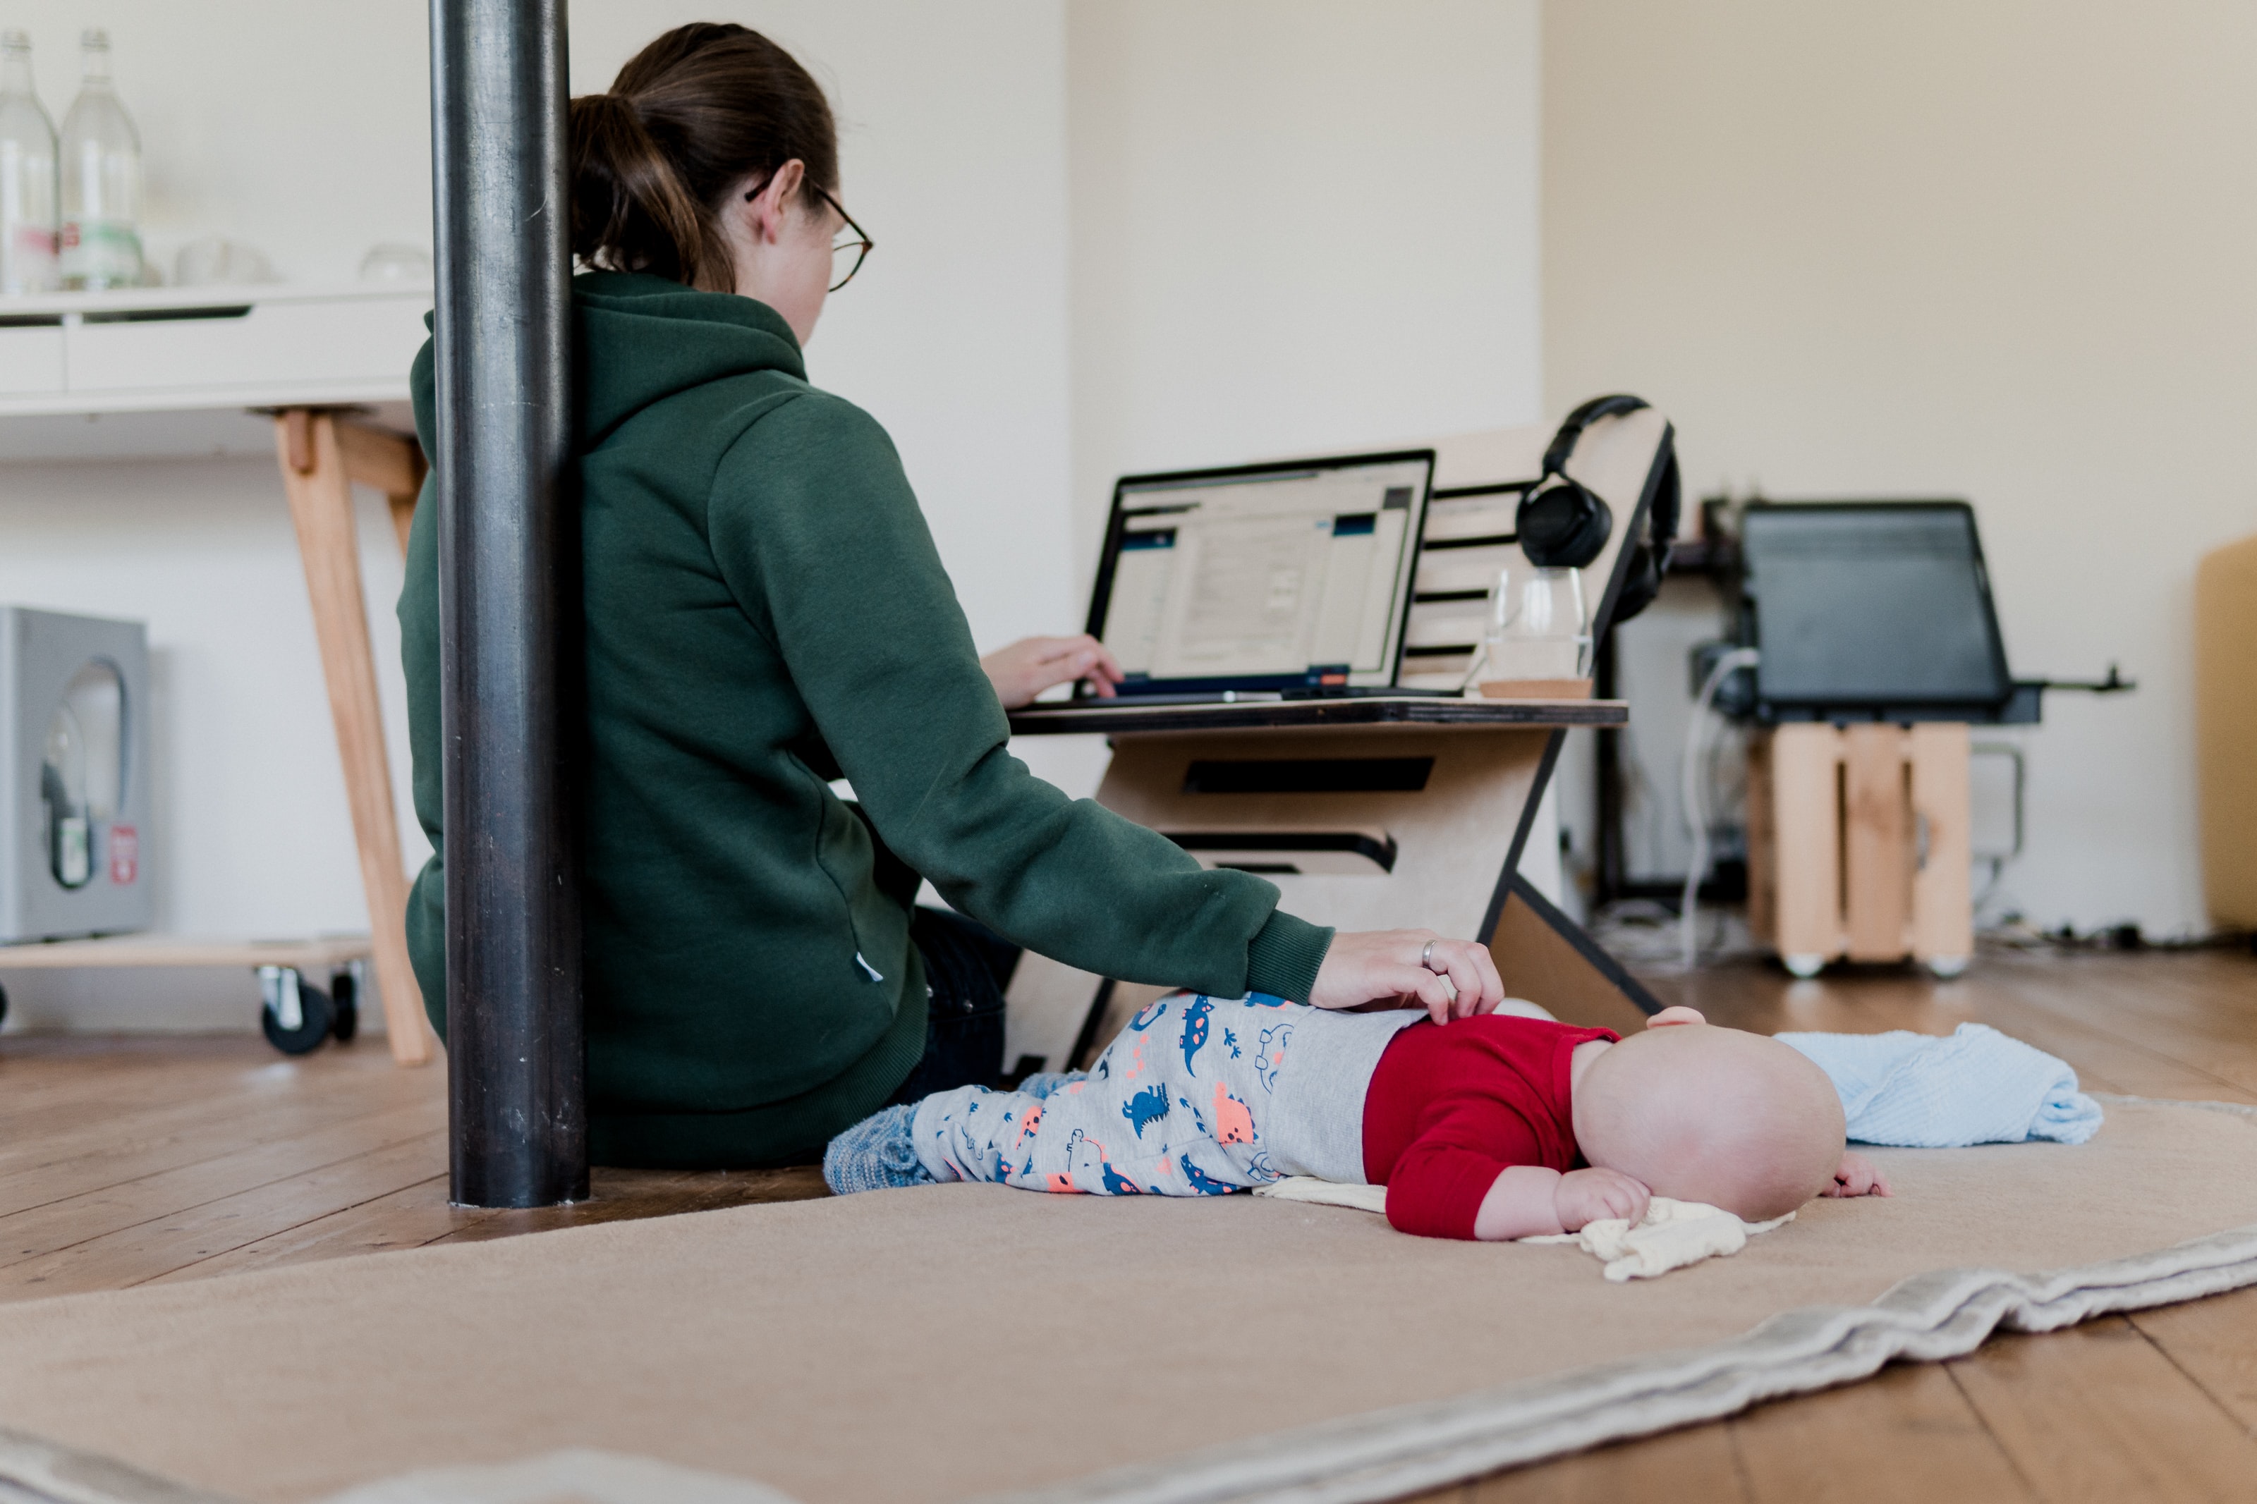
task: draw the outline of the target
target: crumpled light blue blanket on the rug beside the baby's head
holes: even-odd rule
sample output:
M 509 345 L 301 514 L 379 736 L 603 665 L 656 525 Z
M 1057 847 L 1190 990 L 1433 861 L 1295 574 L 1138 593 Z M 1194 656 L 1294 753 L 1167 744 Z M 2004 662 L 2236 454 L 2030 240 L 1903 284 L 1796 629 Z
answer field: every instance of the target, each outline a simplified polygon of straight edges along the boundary
M 2076 1089 L 2065 1060 L 1982 1024 L 1948 1039 L 1907 1030 L 1779 1039 L 1833 1078 L 1855 1143 L 2083 1143 L 2101 1130 L 2101 1105 Z

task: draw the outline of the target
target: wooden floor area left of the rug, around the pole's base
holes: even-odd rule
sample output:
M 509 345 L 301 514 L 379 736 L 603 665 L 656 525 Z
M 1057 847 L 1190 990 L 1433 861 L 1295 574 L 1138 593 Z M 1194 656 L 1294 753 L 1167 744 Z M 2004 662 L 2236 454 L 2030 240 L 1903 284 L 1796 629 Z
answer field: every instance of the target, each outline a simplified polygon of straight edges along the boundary
M 0 1037 L 0 1301 L 810 1195 L 815 1168 L 598 1168 L 578 1206 L 463 1211 L 445 1067 L 381 1039 Z

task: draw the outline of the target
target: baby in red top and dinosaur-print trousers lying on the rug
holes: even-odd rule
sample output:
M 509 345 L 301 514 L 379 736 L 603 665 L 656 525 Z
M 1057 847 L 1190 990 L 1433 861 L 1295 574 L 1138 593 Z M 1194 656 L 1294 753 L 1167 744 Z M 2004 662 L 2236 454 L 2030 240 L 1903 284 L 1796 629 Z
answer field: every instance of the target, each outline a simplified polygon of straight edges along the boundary
M 837 1193 L 989 1179 L 1223 1195 L 1286 1175 L 1386 1186 L 1397 1229 L 1485 1240 L 1639 1222 L 1652 1195 L 1760 1222 L 1812 1195 L 1889 1193 L 1844 1152 L 1819 1067 L 1690 1008 L 1621 1039 L 1259 992 L 1165 997 L 1090 1071 L 887 1107 L 824 1154 Z

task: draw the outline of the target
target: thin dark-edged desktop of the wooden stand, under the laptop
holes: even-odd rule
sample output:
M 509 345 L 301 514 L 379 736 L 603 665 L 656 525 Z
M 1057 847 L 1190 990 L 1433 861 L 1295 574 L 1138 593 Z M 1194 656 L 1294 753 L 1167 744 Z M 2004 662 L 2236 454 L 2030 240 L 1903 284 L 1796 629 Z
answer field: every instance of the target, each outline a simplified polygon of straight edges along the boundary
M 1133 735 L 1140 731 L 1257 731 L 1264 726 L 1625 726 L 1621 699 L 1253 699 L 1207 706 L 1097 701 L 1011 713 L 1011 731 L 1031 735 Z

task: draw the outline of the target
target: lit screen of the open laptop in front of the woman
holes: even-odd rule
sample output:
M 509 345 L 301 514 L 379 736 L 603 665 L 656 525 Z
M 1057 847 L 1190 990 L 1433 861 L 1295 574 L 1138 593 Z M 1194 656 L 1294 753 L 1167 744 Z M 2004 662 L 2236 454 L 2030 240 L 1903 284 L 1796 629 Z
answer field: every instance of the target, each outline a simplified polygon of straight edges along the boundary
M 1433 451 L 1124 476 L 1090 634 L 1124 695 L 1390 685 Z

